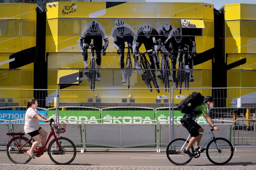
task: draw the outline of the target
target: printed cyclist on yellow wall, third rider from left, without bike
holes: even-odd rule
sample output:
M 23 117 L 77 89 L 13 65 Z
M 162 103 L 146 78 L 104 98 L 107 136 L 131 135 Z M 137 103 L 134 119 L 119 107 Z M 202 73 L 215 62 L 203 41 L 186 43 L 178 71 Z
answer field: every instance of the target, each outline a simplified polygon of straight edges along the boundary
M 151 24 L 144 24 L 142 27 L 140 27 L 137 31 L 137 35 L 135 36 L 133 40 L 133 56 L 136 64 L 133 65 L 133 68 L 141 68 L 139 65 L 139 57 L 135 57 L 135 54 L 139 53 L 140 46 L 144 44 L 146 50 L 152 49 L 152 47 L 155 48 L 155 51 L 159 51 L 159 49 L 162 46 L 161 39 L 159 37 L 158 32 L 152 28 Z M 160 68 L 159 66 L 159 57 L 157 57 L 157 54 L 152 51 L 148 52 L 149 60 L 150 60 L 150 67 L 155 69 L 155 63 L 157 69 Z M 142 74 L 141 72 L 139 72 Z M 157 76 L 159 76 L 161 73 L 160 71 L 157 71 Z M 158 86 L 160 83 L 157 81 Z

